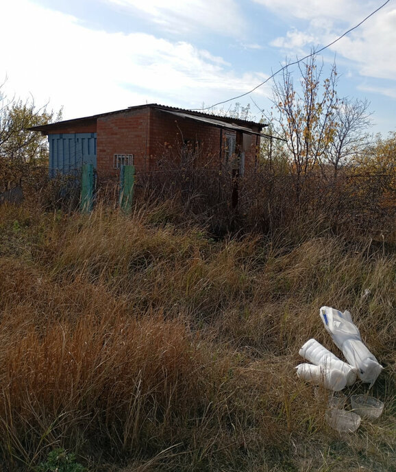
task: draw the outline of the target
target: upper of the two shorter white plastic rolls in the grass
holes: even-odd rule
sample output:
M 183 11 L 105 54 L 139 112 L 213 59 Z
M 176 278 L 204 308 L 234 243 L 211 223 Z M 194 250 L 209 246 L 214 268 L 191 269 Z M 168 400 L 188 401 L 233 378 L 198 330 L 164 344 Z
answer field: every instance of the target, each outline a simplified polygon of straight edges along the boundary
M 352 367 L 341 359 L 338 359 L 332 352 L 322 346 L 313 338 L 308 340 L 299 350 L 299 355 L 307 359 L 316 366 L 322 365 L 326 368 L 336 368 L 341 370 L 347 377 L 347 386 L 354 385 L 356 381 L 357 368 Z

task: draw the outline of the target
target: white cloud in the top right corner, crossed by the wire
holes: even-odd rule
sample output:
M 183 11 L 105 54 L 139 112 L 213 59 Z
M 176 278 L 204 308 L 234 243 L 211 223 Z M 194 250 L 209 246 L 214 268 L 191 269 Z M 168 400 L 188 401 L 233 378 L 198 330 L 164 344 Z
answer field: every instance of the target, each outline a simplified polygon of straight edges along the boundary
M 351 0 L 254 0 L 275 14 L 297 19 L 304 29 L 293 27 L 286 36 L 275 38 L 271 45 L 281 48 L 286 54 L 302 54 L 302 48 L 321 47 L 331 43 L 348 28 L 378 8 L 374 1 Z M 330 47 L 337 56 L 349 61 L 364 77 L 396 77 L 396 10 L 392 3 L 379 10 L 366 22 Z

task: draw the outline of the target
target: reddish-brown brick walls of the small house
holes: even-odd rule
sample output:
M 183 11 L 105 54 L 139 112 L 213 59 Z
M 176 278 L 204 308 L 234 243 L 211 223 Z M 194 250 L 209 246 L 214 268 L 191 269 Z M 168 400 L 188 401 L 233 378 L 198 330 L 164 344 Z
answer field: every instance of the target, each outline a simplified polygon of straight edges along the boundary
M 103 115 L 96 121 L 76 121 L 52 132 L 96 132 L 97 172 L 109 178 L 119 176 L 119 169 L 114 169 L 114 154 L 133 154 L 136 174 L 186 165 L 186 141 L 195 150 L 193 158 L 188 156 L 191 167 L 225 169 L 225 140 L 228 134 L 236 134 L 152 107 Z M 237 137 L 237 142 L 240 141 Z M 245 169 L 256 165 L 259 146 L 259 137 L 243 134 L 241 150 L 245 152 Z

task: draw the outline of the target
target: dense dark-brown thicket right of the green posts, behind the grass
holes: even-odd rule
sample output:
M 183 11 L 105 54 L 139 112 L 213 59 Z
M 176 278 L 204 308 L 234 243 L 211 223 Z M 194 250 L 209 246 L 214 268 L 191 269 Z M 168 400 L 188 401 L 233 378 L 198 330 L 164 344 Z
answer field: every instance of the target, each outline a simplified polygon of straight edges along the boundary
M 175 166 L 173 166 L 175 167 Z M 395 175 L 366 175 L 343 169 L 338 176 L 315 172 L 297 176 L 288 167 L 260 165 L 234 178 L 229 169 L 177 167 L 136 176 L 136 193 L 173 200 L 177 211 L 158 213 L 162 222 L 186 218 L 208 228 L 213 237 L 260 233 L 291 244 L 332 233 L 364 241 L 395 242 Z M 238 190 L 238 204 L 233 195 Z

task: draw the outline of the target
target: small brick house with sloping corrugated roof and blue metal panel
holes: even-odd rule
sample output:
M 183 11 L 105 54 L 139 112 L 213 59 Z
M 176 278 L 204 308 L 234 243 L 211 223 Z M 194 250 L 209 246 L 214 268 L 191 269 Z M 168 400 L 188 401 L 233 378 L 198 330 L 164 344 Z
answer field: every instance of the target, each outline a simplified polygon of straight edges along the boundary
M 146 104 L 69 119 L 30 130 L 49 140 L 49 169 L 71 174 L 92 163 L 98 176 L 119 174 L 133 164 L 136 174 L 164 165 L 233 169 L 257 165 L 262 123 Z

